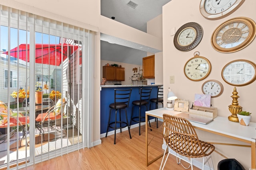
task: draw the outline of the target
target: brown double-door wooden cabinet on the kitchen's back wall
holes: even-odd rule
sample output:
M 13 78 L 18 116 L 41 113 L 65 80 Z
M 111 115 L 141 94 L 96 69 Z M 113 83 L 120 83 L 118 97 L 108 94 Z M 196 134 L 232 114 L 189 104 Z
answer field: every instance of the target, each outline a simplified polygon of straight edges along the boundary
M 110 81 L 124 81 L 124 68 L 103 66 L 103 78 Z

